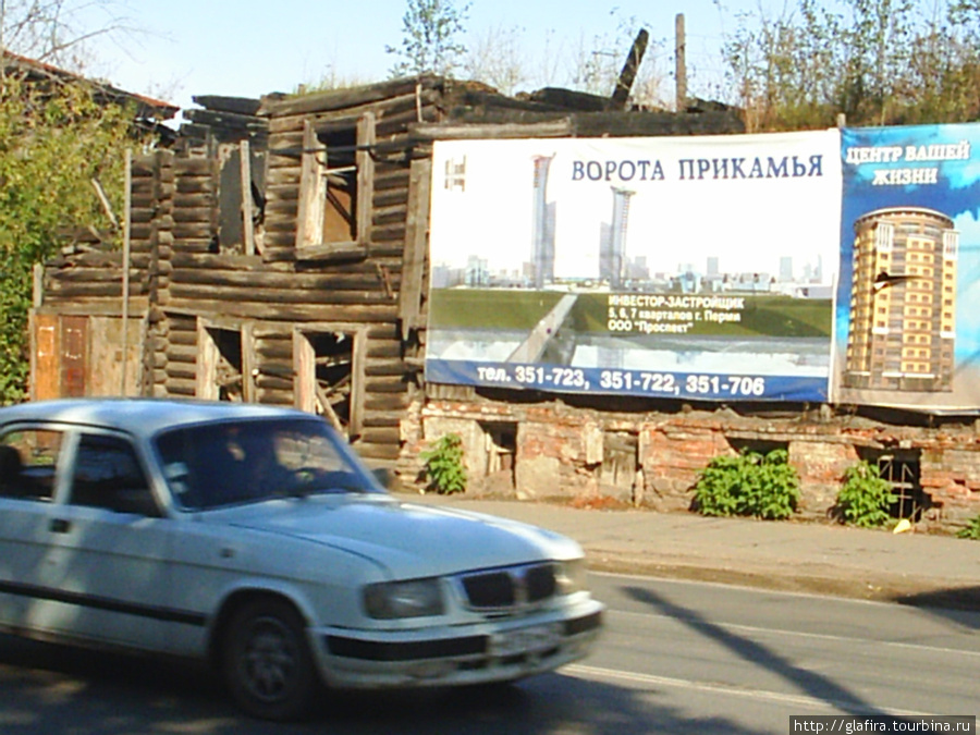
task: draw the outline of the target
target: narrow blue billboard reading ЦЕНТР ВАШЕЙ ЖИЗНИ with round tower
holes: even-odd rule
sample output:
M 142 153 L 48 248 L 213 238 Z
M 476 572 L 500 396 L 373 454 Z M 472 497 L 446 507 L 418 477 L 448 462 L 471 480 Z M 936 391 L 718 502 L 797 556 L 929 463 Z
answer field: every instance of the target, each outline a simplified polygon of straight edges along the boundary
M 842 132 L 837 402 L 980 407 L 980 126 Z

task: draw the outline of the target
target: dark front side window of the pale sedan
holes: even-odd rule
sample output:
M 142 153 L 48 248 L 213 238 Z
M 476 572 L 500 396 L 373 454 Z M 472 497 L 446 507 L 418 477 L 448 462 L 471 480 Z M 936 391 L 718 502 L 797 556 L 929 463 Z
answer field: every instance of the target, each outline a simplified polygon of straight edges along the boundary
M 119 513 L 159 516 L 136 450 L 120 437 L 82 434 L 69 502 Z

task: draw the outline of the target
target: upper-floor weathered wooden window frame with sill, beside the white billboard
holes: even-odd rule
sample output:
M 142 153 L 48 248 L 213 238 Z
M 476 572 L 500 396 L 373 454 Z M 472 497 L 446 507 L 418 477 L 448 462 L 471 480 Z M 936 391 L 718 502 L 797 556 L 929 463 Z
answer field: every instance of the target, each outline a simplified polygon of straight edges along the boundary
M 354 166 L 356 192 L 353 198 L 354 237 L 323 242 L 327 215 L 330 149 L 321 136 L 353 128 L 355 131 Z M 375 161 L 370 148 L 375 145 L 375 114 L 365 112 L 357 118 L 329 121 L 306 120 L 303 123 L 303 154 L 299 167 L 299 204 L 296 215 L 296 258 L 317 260 L 331 256 L 365 256 L 371 228 Z

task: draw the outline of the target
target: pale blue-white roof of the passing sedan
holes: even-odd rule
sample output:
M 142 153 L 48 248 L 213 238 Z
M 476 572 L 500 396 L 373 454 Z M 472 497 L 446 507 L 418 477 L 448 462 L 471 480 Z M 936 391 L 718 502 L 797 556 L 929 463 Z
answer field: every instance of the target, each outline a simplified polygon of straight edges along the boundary
M 249 418 L 308 418 L 295 408 L 181 399 L 61 399 L 0 408 L 0 427 L 14 421 L 60 421 L 152 436 L 162 429 Z

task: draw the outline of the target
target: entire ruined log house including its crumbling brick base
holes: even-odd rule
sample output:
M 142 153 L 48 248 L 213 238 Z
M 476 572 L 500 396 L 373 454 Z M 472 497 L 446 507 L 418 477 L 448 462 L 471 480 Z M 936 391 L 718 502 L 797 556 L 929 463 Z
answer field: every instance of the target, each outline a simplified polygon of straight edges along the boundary
M 427 443 L 454 432 L 470 487 L 519 498 L 686 507 L 712 457 L 782 448 L 811 515 L 860 458 L 886 468 L 903 514 L 976 507 L 970 422 L 426 382 L 434 140 L 742 132 L 733 112 L 624 110 L 560 89 L 512 98 L 436 76 L 197 101 L 171 149 L 133 158 L 122 242 L 76 243 L 38 269 L 33 397 L 296 406 L 407 482 Z

